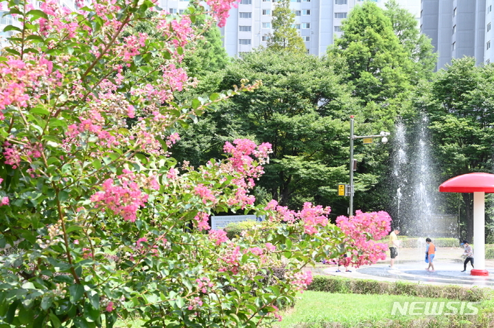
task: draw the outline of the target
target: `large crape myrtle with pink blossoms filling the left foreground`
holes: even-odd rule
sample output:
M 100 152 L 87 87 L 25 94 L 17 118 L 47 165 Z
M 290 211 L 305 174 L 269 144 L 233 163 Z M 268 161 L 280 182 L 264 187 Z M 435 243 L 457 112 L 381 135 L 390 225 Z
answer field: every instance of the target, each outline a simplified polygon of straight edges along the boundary
M 198 168 L 170 155 L 176 125 L 259 86 L 176 101 L 195 84 L 178 64 L 200 5 L 0 3 L 19 21 L 0 57 L 1 327 L 270 325 L 310 283 L 307 264 L 384 258 L 383 244 L 366 247 L 389 230 L 384 212 L 349 218 L 355 236 L 328 223 L 329 207 L 253 205 L 270 144 L 226 142 L 226 159 Z M 208 1 L 220 26 L 232 4 Z M 142 21 L 161 37 L 134 33 Z M 226 210 L 266 221 L 231 241 L 208 225 Z

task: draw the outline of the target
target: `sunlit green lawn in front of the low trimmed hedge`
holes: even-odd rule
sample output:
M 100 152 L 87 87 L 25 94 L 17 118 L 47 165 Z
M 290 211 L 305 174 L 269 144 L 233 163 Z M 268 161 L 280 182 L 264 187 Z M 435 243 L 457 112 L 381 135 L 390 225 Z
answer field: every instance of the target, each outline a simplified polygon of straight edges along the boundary
M 294 327 L 298 323 L 338 322 L 352 327 L 357 323 L 380 320 L 410 320 L 418 316 L 392 316 L 394 302 L 451 301 L 401 295 L 331 294 L 327 292 L 303 292 L 295 307 L 281 314 L 280 328 Z M 454 305 L 457 307 L 457 305 Z

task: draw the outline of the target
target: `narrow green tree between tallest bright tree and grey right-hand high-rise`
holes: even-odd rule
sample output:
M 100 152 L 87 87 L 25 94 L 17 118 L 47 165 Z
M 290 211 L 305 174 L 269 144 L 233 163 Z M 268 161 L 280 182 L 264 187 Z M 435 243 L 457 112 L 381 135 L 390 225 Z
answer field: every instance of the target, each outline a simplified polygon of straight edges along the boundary
M 436 66 L 437 54 L 434 53 L 430 38 L 420 33 L 414 15 L 399 7 L 397 0 L 386 2 L 384 14 L 390 18 L 393 31 L 398 36 L 401 45 L 409 52 L 410 59 L 414 64 L 412 78 L 419 79 L 432 77 Z

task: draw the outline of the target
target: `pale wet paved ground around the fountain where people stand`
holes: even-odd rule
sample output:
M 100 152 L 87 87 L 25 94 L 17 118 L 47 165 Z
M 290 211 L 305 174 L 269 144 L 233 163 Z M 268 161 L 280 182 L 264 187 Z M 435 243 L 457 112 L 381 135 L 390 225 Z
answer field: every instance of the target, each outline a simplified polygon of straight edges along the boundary
M 425 250 L 399 249 L 399 256 L 395 260 L 395 266 L 389 267 L 389 257 L 386 261 L 380 261 L 372 266 L 349 268 L 351 272 L 337 273 L 338 266 L 334 264 L 317 264 L 311 268 L 314 275 L 333 275 L 354 279 L 374 279 L 379 281 L 416 281 L 436 285 L 460 285 L 494 288 L 494 260 L 486 260 L 486 270 L 491 273 L 488 277 L 471 276 L 471 265 L 467 265 L 467 271 L 462 273 L 463 260 L 460 257 L 463 249 L 456 247 L 444 247 L 438 249 L 434 266 L 434 273 L 425 270 L 428 264 L 423 257 Z

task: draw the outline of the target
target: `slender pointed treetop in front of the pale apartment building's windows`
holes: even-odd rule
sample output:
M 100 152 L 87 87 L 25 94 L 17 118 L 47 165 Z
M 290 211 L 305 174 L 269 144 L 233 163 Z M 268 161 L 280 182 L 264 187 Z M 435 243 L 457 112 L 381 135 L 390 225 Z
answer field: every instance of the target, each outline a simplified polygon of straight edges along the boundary
M 306 53 L 302 37 L 294 27 L 295 14 L 290 10 L 290 0 L 277 2 L 272 12 L 273 33 L 268 34 L 268 49 Z

